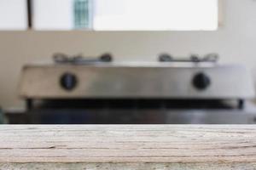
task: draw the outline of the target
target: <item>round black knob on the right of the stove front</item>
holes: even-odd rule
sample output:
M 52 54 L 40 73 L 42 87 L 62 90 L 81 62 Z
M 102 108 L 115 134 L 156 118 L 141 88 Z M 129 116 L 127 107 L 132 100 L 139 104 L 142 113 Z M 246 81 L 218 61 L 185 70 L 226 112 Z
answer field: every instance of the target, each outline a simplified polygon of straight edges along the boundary
M 205 90 L 211 85 L 211 79 L 205 73 L 198 73 L 193 78 L 193 85 L 198 90 Z

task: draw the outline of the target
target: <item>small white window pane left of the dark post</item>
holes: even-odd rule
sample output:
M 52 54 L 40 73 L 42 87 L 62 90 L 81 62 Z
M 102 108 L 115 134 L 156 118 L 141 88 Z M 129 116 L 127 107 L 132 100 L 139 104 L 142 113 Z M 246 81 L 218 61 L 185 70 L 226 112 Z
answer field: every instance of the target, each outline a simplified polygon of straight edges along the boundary
M 0 30 L 26 30 L 26 0 L 0 0 Z

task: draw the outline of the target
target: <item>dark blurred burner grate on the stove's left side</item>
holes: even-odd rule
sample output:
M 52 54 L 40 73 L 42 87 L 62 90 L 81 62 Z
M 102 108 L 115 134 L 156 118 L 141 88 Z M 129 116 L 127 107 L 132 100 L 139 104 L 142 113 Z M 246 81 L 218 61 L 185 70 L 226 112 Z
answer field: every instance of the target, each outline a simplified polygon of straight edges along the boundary
M 68 56 L 67 54 L 54 54 L 55 64 L 73 64 L 73 65 L 90 65 L 98 63 L 108 63 L 113 61 L 111 54 L 102 54 L 98 58 L 85 58 L 82 55 Z

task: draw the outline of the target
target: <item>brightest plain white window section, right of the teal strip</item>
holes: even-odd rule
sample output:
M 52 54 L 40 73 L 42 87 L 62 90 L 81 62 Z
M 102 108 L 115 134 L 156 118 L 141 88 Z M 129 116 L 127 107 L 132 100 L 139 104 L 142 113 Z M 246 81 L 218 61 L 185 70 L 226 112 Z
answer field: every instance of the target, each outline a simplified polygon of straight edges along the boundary
M 214 31 L 218 0 L 95 0 L 97 31 Z

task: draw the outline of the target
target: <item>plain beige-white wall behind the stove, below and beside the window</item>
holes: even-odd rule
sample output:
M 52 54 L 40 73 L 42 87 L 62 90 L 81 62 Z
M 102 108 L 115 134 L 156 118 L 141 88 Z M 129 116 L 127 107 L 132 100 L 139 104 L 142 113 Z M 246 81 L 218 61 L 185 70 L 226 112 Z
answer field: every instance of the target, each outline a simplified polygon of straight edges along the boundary
M 55 52 L 108 51 L 119 60 L 155 60 L 161 52 L 217 52 L 222 63 L 250 67 L 256 80 L 256 1 L 224 0 L 224 26 L 219 31 L 0 31 L 0 105 L 21 104 L 16 89 L 20 69 L 27 62 L 50 59 Z

